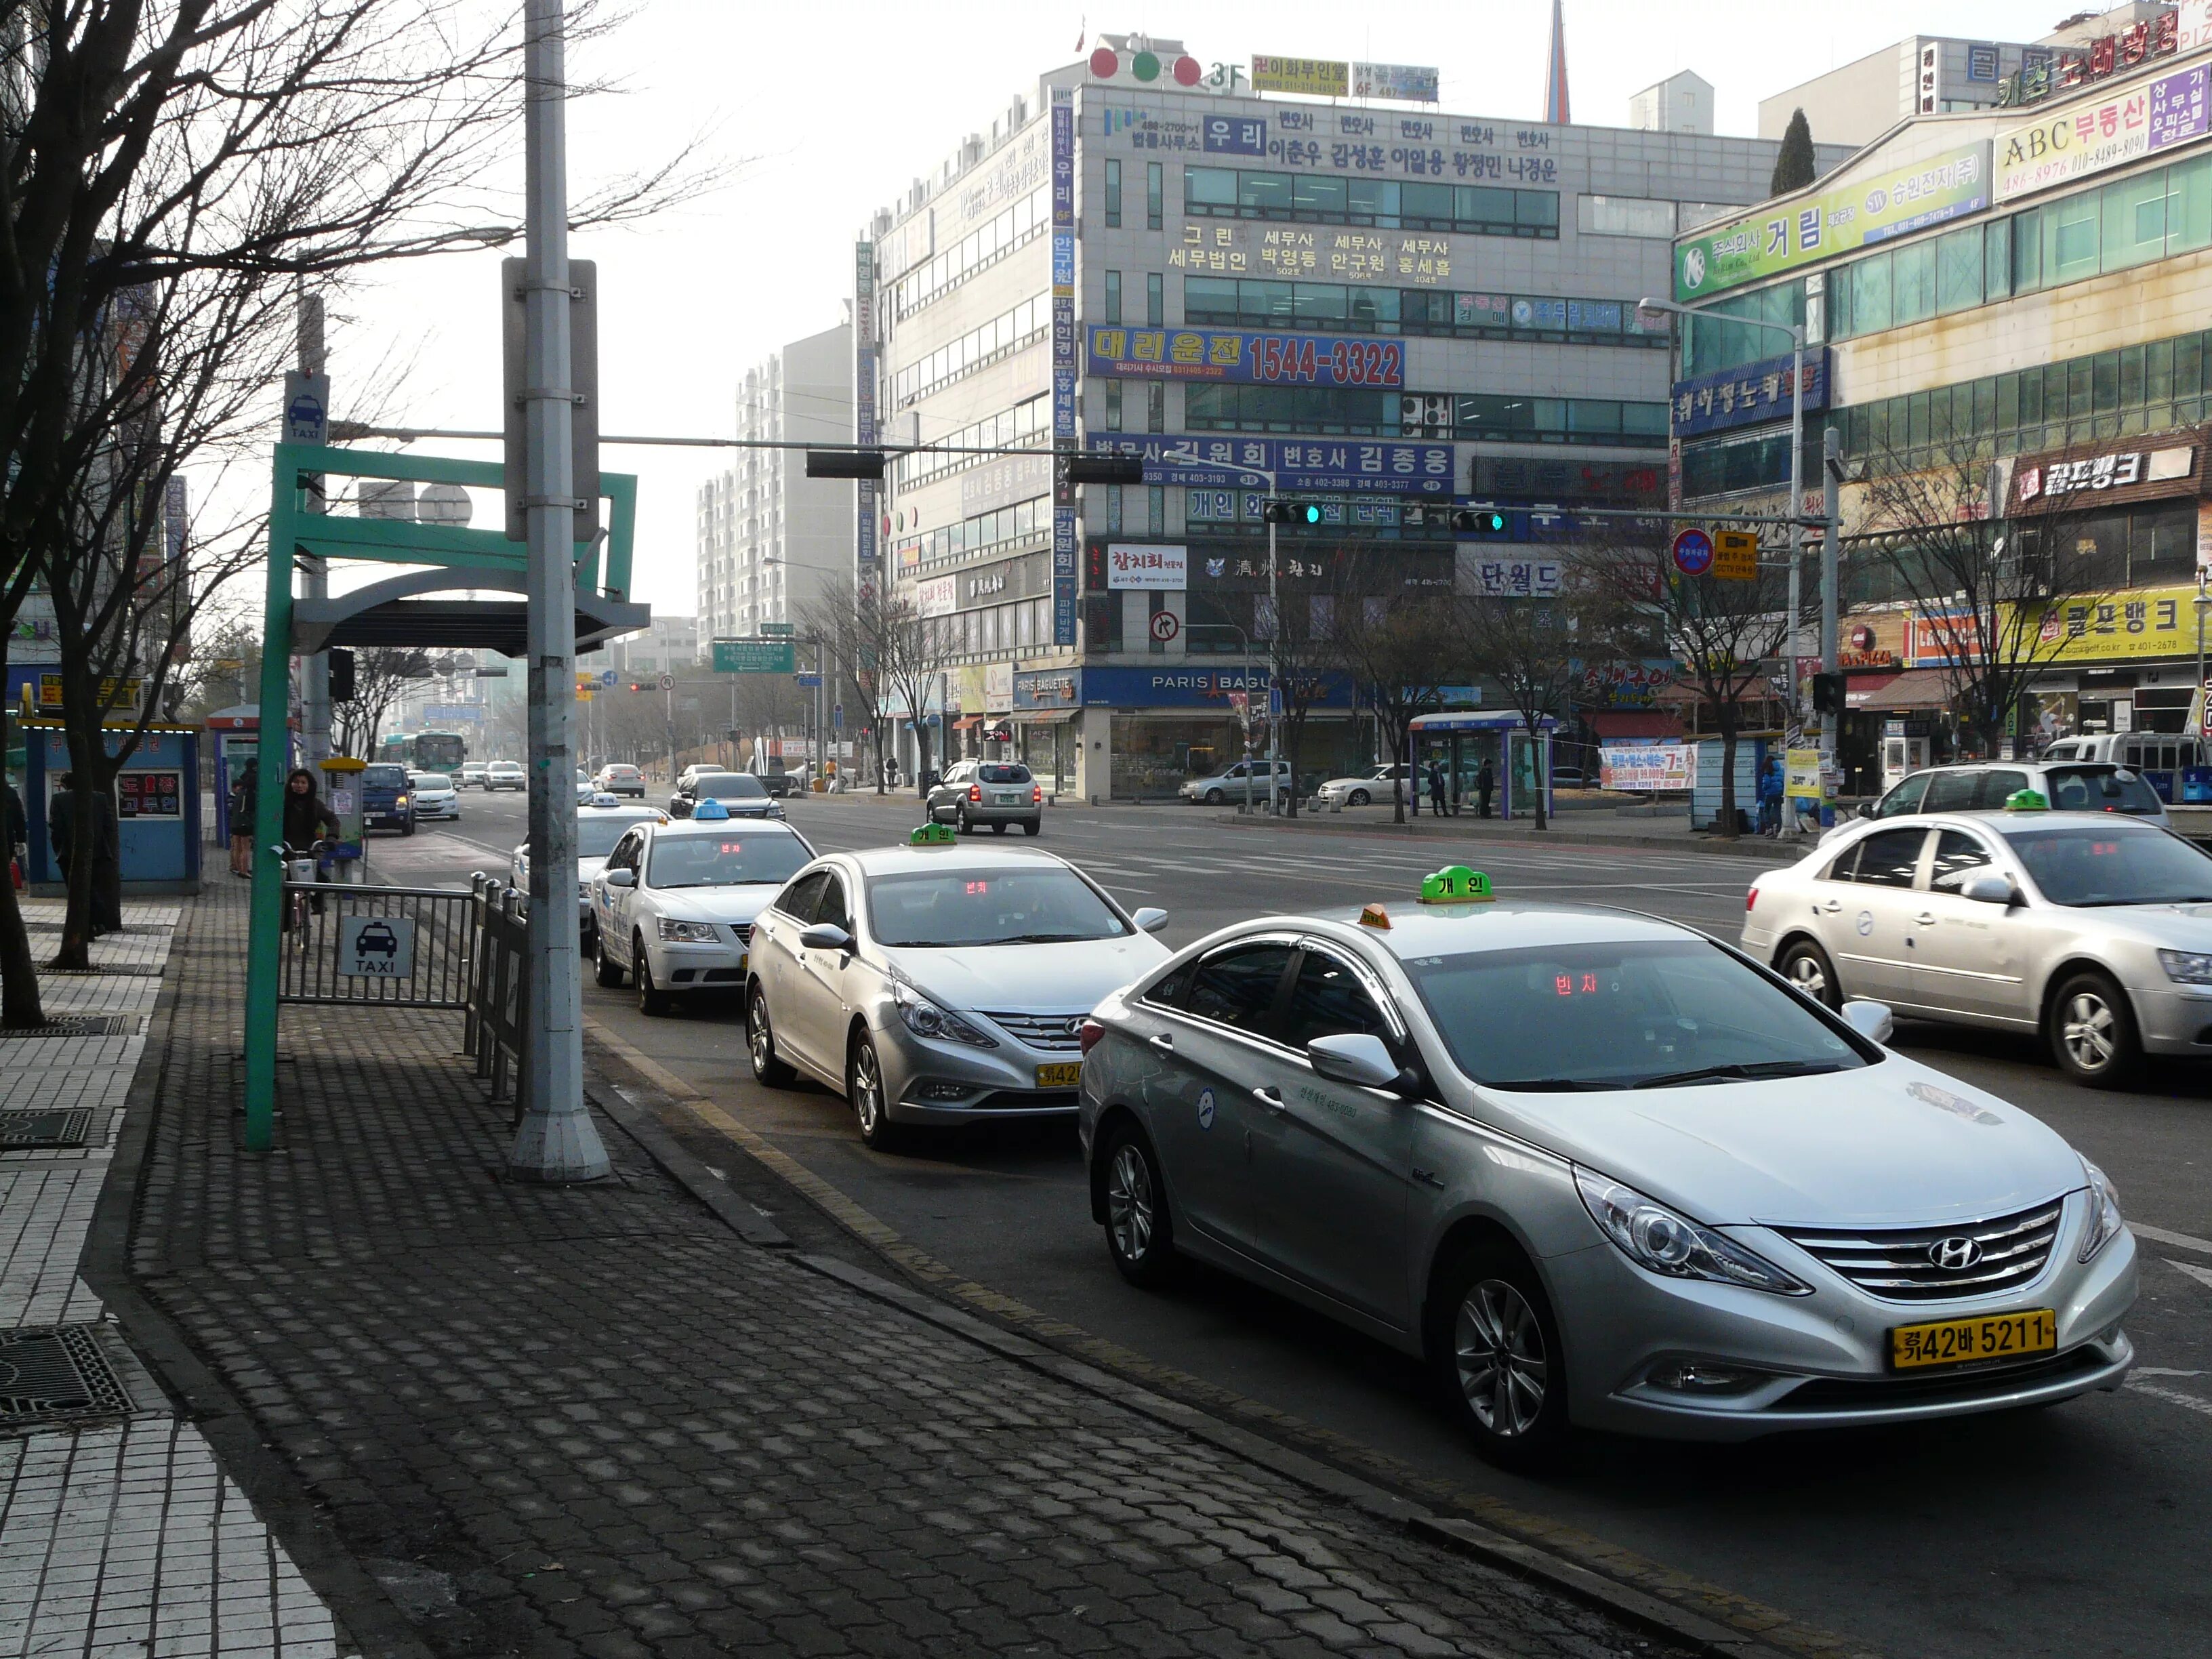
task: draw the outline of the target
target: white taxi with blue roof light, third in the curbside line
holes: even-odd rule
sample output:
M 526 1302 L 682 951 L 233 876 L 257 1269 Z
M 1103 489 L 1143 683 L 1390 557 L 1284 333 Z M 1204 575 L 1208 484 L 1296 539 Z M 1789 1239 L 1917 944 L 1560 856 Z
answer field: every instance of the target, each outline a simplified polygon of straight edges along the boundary
M 591 880 L 599 984 L 637 987 L 641 1013 L 745 984 L 752 918 L 814 858 L 787 823 L 737 821 L 701 801 L 684 821 L 630 825 Z

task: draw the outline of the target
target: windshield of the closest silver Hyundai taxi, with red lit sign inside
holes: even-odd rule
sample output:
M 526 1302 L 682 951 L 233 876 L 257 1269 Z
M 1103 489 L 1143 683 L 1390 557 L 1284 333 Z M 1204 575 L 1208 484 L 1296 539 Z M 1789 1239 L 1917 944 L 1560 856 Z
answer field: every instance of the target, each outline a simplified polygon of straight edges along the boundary
M 1867 1064 L 1796 995 L 1701 940 L 1416 956 L 1405 971 L 1453 1062 L 1491 1088 L 1668 1088 Z

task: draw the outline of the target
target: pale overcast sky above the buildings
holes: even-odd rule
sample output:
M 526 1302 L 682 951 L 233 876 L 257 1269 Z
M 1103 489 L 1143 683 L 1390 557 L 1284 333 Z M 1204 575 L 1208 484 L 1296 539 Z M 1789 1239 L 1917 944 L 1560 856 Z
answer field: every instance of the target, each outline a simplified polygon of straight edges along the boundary
M 511 9 L 484 2 L 487 15 Z M 575 237 L 571 254 L 599 261 L 602 429 L 686 436 L 730 436 L 743 369 L 843 319 L 852 239 L 867 217 L 933 173 L 967 133 L 989 133 L 1015 93 L 1033 97 L 1037 75 L 1071 62 L 1077 40 L 1088 51 L 1099 31 L 1152 31 L 1206 64 L 1252 53 L 1436 64 L 1447 113 L 1535 119 L 1551 29 L 1551 0 L 633 4 L 635 18 L 573 66 L 577 80 L 619 91 L 571 111 L 571 192 L 653 166 L 695 135 L 741 168 L 648 226 Z M 1761 97 L 1909 33 L 2033 40 L 2070 9 L 2064 0 L 1858 0 L 1818 11 L 1776 0 L 1566 0 L 1573 115 L 1626 126 L 1630 93 L 1694 69 L 1717 88 L 1719 131 L 1750 135 Z M 341 299 L 330 343 L 336 411 L 349 414 L 347 389 L 378 365 L 405 365 L 396 403 L 409 425 L 498 427 L 498 259 L 449 257 Z M 655 611 L 695 611 L 692 493 L 726 458 L 699 449 L 602 458 L 608 471 L 639 473 L 637 597 Z

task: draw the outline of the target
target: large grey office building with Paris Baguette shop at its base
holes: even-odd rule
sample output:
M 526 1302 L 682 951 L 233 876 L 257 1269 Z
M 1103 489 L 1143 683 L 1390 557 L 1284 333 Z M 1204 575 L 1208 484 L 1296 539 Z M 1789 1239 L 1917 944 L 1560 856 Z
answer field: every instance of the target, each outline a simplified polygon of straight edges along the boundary
M 1254 69 L 1316 93 L 1436 84 Z M 909 453 L 887 480 L 885 580 L 940 619 L 956 745 L 1004 732 L 1082 796 L 1172 792 L 1243 752 L 1279 615 L 1298 637 L 1338 604 L 1542 586 L 1542 507 L 1659 500 L 1668 352 L 1635 301 L 1679 226 L 1765 195 L 1774 155 L 1263 97 L 1161 40 L 1046 73 L 856 261 L 885 440 L 1037 451 Z M 1055 500 L 1055 431 L 1159 482 Z M 1283 526 L 1272 595 L 1270 493 L 1323 520 Z M 1447 504 L 1471 495 L 1509 509 L 1500 542 L 1455 542 Z M 1327 679 L 1305 770 L 1369 743 Z

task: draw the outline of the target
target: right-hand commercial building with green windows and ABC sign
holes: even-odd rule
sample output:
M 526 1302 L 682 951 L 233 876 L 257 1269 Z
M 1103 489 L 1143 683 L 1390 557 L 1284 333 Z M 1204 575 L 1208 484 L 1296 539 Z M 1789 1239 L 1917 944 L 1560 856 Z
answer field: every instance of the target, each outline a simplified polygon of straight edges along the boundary
M 1683 330 L 1674 385 L 1683 504 L 1783 507 L 1787 341 L 1739 319 L 1803 323 L 1812 343 L 1803 507 L 1818 513 L 1825 427 L 1851 480 L 1847 790 L 1951 752 L 1958 664 L 2000 653 L 2031 664 L 2015 748 L 2203 719 L 2212 0 L 2137 22 L 2062 53 L 2042 97 L 1918 115 L 1814 188 L 1677 241 L 1674 296 L 1710 314 Z M 1885 509 L 1896 480 L 1944 478 L 1955 500 L 1931 524 Z M 2048 597 L 2022 586 L 1966 615 L 1907 582 L 1898 553 L 1958 522 L 2046 560 L 2020 568 Z M 2017 617 L 2017 646 L 1978 644 Z

